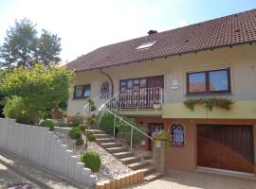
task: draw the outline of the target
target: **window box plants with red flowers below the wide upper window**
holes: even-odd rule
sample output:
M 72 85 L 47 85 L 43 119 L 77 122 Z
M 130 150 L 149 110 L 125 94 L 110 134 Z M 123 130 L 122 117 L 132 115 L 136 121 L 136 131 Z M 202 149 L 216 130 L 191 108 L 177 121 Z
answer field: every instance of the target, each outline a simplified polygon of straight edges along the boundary
M 231 106 L 233 105 L 234 101 L 230 98 L 223 98 L 223 97 L 207 97 L 207 98 L 189 98 L 184 101 L 186 107 L 194 110 L 195 105 L 205 105 L 205 108 L 208 110 L 212 110 L 213 107 L 230 110 Z

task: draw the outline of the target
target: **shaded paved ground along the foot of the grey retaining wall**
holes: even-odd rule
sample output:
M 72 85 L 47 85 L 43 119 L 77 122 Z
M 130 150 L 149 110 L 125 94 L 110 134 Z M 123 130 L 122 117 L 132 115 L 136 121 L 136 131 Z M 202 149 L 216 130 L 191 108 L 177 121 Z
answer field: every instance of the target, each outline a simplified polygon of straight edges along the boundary
M 87 187 L 77 187 L 71 183 L 67 183 L 57 175 L 46 172 L 45 170 L 0 149 L 0 188 L 85 189 Z

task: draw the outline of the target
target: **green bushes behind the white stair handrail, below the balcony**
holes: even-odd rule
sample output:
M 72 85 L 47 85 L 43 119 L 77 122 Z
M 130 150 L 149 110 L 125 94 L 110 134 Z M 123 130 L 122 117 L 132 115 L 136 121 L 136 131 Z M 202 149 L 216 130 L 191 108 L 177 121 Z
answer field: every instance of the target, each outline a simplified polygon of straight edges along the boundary
M 132 126 L 136 126 L 136 122 L 135 119 L 132 118 L 128 118 L 128 117 L 121 117 L 122 119 L 124 119 L 126 122 L 130 123 Z M 113 129 L 113 127 L 112 127 Z M 132 132 L 132 128 L 127 125 L 126 123 L 124 123 L 123 121 L 119 121 L 118 122 L 118 129 L 119 129 L 119 135 L 124 138 L 127 142 L 130 142 L 131 140 L 131 132 Z M 144 127 L 137 127 L 137 129 L 139 129 L 140 131 L 146 133 L 147 129 Z M 133 131 L 133 143 L 140 143 L 141 140 L 144 140 L 145 136 L 137 131 L 137 129 L 134 129 Z

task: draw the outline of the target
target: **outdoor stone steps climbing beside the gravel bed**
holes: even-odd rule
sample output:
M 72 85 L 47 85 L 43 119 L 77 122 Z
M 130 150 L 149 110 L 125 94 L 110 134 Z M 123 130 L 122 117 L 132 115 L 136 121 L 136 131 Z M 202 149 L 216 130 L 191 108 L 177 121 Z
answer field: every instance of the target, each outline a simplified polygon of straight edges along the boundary
M 156 180 L 163 176 L 162 173 L 155 171 L 155 167 L 147 161 L 141 161 L 135 153 L 129 151 L 122 144 L 117 142 L 117 139 L 109 134 L 106 134 L 101 129 L 90 129 L 96 136 L 96 143 L 102 146 L 106 151 L 116 157 L 121 163 L 127 165 L 132 170 L 140 170 L 144 173 L 145 181 Z

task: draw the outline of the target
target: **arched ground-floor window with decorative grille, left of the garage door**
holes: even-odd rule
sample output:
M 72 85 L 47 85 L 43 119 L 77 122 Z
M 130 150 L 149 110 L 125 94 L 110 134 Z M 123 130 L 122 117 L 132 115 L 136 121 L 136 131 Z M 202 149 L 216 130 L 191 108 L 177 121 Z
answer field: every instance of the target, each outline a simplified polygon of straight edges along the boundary
M 171 145 L 184 146 L 185 130 L 181 123 L 173 123 L 170 127 Z

